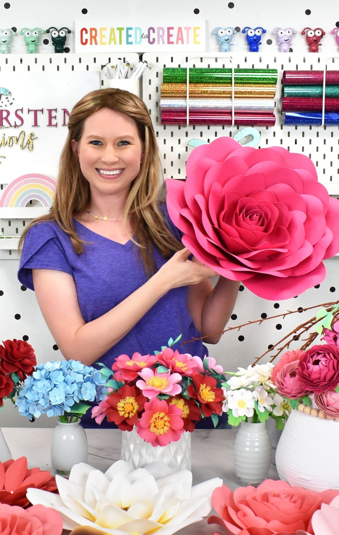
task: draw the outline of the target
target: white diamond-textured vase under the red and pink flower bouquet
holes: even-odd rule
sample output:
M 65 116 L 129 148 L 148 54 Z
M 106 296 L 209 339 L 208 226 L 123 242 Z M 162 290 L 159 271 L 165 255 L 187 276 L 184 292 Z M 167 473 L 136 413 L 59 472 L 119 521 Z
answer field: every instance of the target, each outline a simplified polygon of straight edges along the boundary
M 136 427 L 133 427 L 132 431 L 122 432 L 121 458 L 131 463 L 133 468 L 160 461 L 174 472 L 191 470 L 191 433 L 184 431 L 176 442 L 154 447 L 140 438 Z

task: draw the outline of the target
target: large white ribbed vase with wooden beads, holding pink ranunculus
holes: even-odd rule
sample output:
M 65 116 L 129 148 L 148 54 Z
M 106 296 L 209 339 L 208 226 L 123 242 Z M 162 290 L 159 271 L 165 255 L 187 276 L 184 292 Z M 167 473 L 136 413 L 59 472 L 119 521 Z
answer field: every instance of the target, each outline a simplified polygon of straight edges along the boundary
M 280 437 L 275 462 L 290 485 L 339 489 L 339 422 L 293 410 Z

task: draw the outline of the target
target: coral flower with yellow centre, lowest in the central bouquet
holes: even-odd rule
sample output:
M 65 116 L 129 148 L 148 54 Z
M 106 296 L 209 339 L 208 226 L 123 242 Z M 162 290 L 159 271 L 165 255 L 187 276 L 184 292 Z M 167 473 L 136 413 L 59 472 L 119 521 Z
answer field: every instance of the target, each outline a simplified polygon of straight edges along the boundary
M 136 423 L 137 433 L 146 442 L 152 442 L 152 446 L 167 446 L 184 432 L 182 414 L 176 404 L 153 398 L 145 403 L 145 412 Z

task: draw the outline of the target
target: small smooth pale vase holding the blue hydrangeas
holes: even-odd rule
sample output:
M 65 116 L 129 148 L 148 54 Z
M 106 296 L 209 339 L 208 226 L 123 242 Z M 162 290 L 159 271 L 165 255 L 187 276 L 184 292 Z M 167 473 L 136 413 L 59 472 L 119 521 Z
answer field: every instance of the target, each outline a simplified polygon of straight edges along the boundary
M 69 476 L 74 464 L 86 463 L 88 443 L 85 430 L 79 422 L 59 422 L 54 427 L 51 441 L 51 463 L 54 472 Z

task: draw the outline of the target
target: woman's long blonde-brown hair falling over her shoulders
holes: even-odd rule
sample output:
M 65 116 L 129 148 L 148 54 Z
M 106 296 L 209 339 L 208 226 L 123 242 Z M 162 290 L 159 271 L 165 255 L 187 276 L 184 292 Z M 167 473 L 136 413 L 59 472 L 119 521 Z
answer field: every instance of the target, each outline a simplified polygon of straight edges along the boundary
M 29 228 L 40 221 L 54 220 L 69 235 L 77 254 L 83 253 L 83 240 L 74 230 L 73 217 L 83 213 L 90 204 L 90 188 L 84 178 L 80 164 L 72 149 L 72 140 L 80 141 L 84 121 L 101 108 L 108 108 L 133 119 L 137 125 L 144 157 L 140 171 L 133 180 L 125 205 L 124 218 L 126 228 L 129 213 L 133 212 L 135 221 L 135 239 L 130 239 L 139 247 L 150 276 L 155 271 L 152 244 L 160 250 L 164 258 L 171 251 L 180 250 L 183 245 L 169 232 L 158 209 L 160 158 L 151 117 L 145 103 L 136 95 L 120 89 L 98 89 L 85 95 L 75 104 L 68 119 L 68 136 L 61 153 L 56 193 L 50 213 L 32 221 L 19 242 L 19 250 Z

